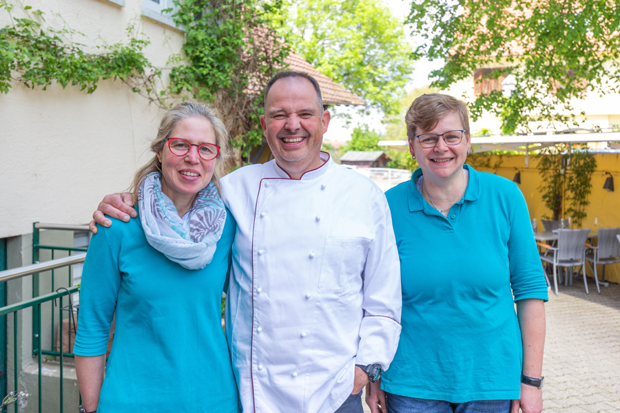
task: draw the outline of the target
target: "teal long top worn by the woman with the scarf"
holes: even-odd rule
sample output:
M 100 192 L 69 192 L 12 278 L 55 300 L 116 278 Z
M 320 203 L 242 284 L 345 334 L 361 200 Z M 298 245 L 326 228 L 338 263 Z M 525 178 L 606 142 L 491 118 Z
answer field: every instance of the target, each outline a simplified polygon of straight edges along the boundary
M 188 270 L 149 245 L 140 218 L 98 226 L 88 246 L 74 353 L 107 351 L 100 413 L 238 413 L 238 390 L 222 330 L 236 223 L 231 213 L 213 260 Z

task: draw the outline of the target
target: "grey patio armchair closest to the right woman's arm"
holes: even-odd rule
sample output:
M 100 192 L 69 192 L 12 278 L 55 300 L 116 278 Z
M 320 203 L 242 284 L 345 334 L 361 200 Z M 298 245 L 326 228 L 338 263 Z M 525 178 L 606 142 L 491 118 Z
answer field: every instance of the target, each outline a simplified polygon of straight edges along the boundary
M 545 253 L 540 253 L 540 260 L 548 262 L 553 266 L 553 288 L 557 295 L 557 270 L 558 267 L 581 266 L 583 271 L 583 284 L 586 286 L 586 294 L 588 291 L 588 282 L 586 281 L 586 240 L 590 234 L 590 229 L 559 229 L 557 246 L 542 244 L 537 242 L 539 246 L 547 248 Z M 549 252 L 549 253 L 548 253 Z

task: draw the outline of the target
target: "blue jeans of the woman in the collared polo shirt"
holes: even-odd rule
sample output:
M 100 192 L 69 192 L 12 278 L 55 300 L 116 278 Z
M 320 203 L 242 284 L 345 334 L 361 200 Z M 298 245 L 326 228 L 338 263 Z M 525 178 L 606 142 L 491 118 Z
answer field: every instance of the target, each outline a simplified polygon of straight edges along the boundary
M 450 403 L 442 400 L 385 394 L 387 413 L 508 413 L 510 400 L 475 400 Z

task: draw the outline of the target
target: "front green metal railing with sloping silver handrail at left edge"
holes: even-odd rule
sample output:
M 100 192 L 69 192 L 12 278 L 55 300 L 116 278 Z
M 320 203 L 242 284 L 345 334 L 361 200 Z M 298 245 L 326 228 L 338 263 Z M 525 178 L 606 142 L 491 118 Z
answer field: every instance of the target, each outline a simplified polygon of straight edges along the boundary
M 14 268 L 12 270 L 8 270 L 8 271 L 0 271 L 0 282 L 6 282 L 10 279 L 16 279 L 19 277 L 25 277 L 28 275 L 35 275 L 35 274 L 39 274 L 43 271 L 53 271 L 56 268 L 63 268 L 65 266 L 71 266 L 72 264 L 78 264 L 80 262 L 83 262 L 85 259 L 85 254 L 80 254 L 80 255 L 74 255 L 74 256 L 70 256 L 70 257 L 65 257 L 65 258 L 61 258 L 61 259 L 56 259 L 56 260 L 51 260 L 48 262 L 43 262 L 40 264 L 33 264 L 31 266 L 24 266 L 21 268 Z M 45 294 L 45 295 L 41 295 L 38 297 L 33 297 L 32 299 L 26 300 L 26 301 L 21 301 L 19 303 L 16 304 L 10 304 L 9 306 L 4 306 L 2 308 L 0 308 L 0 316 L 3 317 L 10 317 L 10 315 L 12 314 L 13 317 L 13 357 L 14 357 L 14 363 L 13 363 L 13 386 L 14 386 L 14 392 L 17 394 L 19 392 L 19 372 L 20 372 L 20 368 L 19 368 L 19 354 L 18 354 L 18 349 L 19 349 L 19 335 L 18 335 L 18 326 L 19 326 L 19 322 L 18 322 L 18 312 L 21 310 L 25 310 L 27 308 L 32 308 L 32 314 L 33 314 L 33 319 L 35 318 L 34 316 L 36 315 L 36 319 L 37 319 L 37 324 L 33 325 L 33 334 L 37 337 L 37 343 L 40 344 L 40 337 L 41 337 L 41 305 L 45 304 L 45 303 L 51 303 L 52 301 L 55 302 L 56 299 L 59 300 L 59 306 L 58 306 L 58 311 L 59 311 L 59 322 L 61 323 L 61 328 L 60 330 L 60 351 L 59 352 L 51 352 L 51 351 L 45 351 L 41 349 L 41 346 L 37 346 L 36 352 L 34 354 L 34 356 L 38 357 L 38 363 L 39 363 L 39 413 L 41 413 L 43 411 L 43 387 L 41 385 L 41 357 L 44 354 L 52 354 L 52 355 L 57 355 L 60 358 L 60 406 L 59 406 L 59 412 L 63 412 L 63 368 L 64 368 L 64 359 L 65 357 L 74 357 L 72 353 L 65 353 L 63 352 L 63 330 L 62 330 L 62 320 L 63 320 L 63 310 L 65 310 L 64 306 L 63 306 L 63 299 L 66 296 L 69 296 L 69 301 L 71 301 L 71 297 L 70 295 L 73 293 L 77 293 L 79 290 L 78 286 L 72 286 L 70 288 L 59 288 L 59 291 L 55 291 L 53 293 L 49 293 L 49 294 Z M 52 311 L 53 313 L 53 311 Z M 71 317 L 70 317 L 71 319 Z M 8 321 L 8 320 L 7 320 Z M 71 337 L 71 334 L 69 333 L 69 337 Z M 69 347 L 70 348 L 70 347 Z M 76 409 L 77 410 L 77 409 Z M 14 404 L 14 411 L 17 413 L 19 412 L 19 403 L 15 403 Z M 49 411 L 49 410 L 48 410 Z

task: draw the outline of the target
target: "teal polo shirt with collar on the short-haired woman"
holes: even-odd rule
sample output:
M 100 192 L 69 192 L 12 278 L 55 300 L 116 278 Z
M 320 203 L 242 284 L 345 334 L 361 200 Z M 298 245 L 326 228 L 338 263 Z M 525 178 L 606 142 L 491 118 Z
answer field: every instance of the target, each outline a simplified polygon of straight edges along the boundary
M 402 332 L 386 392 L 462 403 L 519 399 L 521 330 L 514 300 L 548 299 L 517 184 L 469 171 L 444 217 L 415 186 L 386 192 L 402 279 Z

